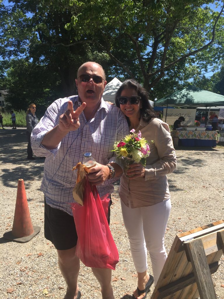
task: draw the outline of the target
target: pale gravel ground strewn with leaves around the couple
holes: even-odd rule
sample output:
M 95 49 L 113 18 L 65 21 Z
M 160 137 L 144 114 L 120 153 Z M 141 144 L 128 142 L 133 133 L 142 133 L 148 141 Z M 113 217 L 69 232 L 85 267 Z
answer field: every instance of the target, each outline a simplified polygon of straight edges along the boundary
M 56 249 L 44 238 L 44 195 L 40 191 L 44 160 L 26 159 L 25 129 L 16 132 L 0 130 L 0 144 L 0 299 L 63 299 L 66 285 L 58 268 Z M 167 251 L 180 231 L 224 219 L 223 144 L 216 148 L 179 147 L 176 152 L 178 167 L 168 176 L 172 210 L 165 235 Z M 12 229 L 17 182 L 21 178 L 24 179 L 32 224 L 41 227 L 36 237 L 23 244 L 2 237 Z M 123 225 L 118 187 L 119 183 L 115 184 L 112 194 L 110 227 L 120 261 L 116 271 L 112 271 L 112 285 L 115 299 L 130 299 L 137 278 Z M 148 265 L 151 273 L 150 259 Z M 212 277 L 217 298 L 224 299 L 224 257 Z M 84 265 L 81 265 L 79 288 L 83 299 L 101 298 L 98 282 Z

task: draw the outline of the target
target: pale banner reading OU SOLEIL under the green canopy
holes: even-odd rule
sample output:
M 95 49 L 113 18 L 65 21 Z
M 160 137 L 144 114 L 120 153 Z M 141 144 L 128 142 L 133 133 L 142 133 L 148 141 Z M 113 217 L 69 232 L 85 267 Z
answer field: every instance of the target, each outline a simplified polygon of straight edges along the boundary
M 182 126 L 194 126 L 196 115 L 196 109 L 163 109 L 162 120 L 168 123 L 168 125 L 173 125 L 174 121 L 180 116 L 185 118 L 185 121 L 181 123 Z

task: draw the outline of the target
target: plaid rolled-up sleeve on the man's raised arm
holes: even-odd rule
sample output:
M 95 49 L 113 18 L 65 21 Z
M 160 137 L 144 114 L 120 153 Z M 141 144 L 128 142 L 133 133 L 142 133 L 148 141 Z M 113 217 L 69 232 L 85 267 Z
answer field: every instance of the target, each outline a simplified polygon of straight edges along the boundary
M 31 147 L 33 153 L 38 157 L 48 157 L 56 155 L 61 143 L 55 149 L 47 149 L 42 145 L 42 141 L 47 132 L 53 129 L 59 123 L 59 116 L 62 114 L 60 111 L 62 99 L 53 102 L 41 118 L 39 123 L 35 126 L 31 134 Z

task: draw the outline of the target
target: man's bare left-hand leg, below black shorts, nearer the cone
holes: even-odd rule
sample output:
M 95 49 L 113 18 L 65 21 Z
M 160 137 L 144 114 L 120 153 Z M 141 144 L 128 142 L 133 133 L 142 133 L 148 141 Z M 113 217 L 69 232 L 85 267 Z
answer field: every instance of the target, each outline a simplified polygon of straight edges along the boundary
M 75 254 L 76 246 L 67 250 L 57 250 L 57 252 L 59 268 L 67 283 L 64 299 L 76 299 L 79 291 L 78 275 L 80 269 L 80 260 Z

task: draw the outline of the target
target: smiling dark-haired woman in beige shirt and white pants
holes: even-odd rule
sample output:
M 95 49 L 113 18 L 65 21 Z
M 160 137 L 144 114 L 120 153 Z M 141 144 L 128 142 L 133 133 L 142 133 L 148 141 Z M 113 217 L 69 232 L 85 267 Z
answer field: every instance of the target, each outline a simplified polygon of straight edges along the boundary
M 147 249 L 155 285 L 167 258 L 164 235 L 171 201 L 166 175 L 176 168 L 176 155 L 168 124 L 156 118 L 148 92 L 138 82 L 125 80 L 116 93 L 115 103 L 125 114 L 130 130 L 141 131 L 150 144 L 146 166 L 130 165 L 127 174 L 132 177 L 122 175 L 119 187 L 122 215 L 138 273 L 134 297 L 142 299 L 153 283 L 153 277 L 147 273 Z

